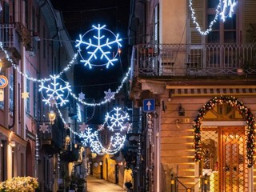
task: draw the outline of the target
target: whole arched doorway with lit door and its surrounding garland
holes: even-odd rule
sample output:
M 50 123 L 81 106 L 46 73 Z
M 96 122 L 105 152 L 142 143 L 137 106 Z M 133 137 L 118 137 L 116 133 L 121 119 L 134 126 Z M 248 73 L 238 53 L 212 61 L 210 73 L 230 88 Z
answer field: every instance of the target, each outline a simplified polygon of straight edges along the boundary
M 195 160 L 210 191 L 249 191 L 254 116 L 238 98 L 215 97 L 194 121 Z

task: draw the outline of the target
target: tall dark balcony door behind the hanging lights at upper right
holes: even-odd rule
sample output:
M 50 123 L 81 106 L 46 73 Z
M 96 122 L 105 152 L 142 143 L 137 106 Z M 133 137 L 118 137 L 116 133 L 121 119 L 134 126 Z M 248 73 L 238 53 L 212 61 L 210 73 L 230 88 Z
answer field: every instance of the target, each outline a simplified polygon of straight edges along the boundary
M 207 0 L 206 4 L 206 26 L 214 21 L 216 8 L 219 1 Z M 223 7 L 222 2 L 222 7 Z M 239 42 L 238 35 L 238 5 L 234 6 L 234 12 L 228 16 L 230 6 L 226 8 L 225 22 L 222 16 L 218 16 L 218 20 L 212 26 L 212 31 L 206 35 L 206 43 L 211 44 L 206 50 L 206 67 L 220 68 L 231 70 L 236 67 L 237 55 L 235 54 L 234 43 Z M 229 46 L 222 46 L 229 44 Z

